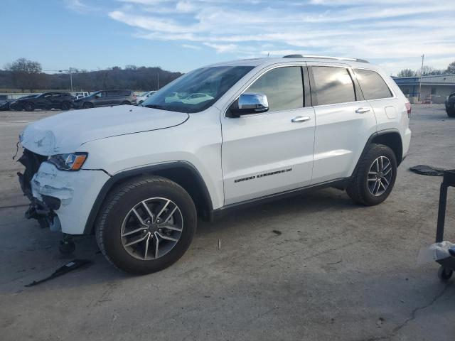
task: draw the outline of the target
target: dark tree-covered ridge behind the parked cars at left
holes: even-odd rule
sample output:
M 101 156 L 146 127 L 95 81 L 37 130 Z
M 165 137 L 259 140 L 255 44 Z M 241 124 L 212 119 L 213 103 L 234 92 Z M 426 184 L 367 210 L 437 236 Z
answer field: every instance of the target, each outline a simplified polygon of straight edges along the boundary
M 107 70 L 87 71 L 71 68 L 43 72 L 40 63 L 19 58 L 0 70 L 0 88 L 19 89 L 22 92 L 36 90 L 69 90 L 70 72 L 73 90 L 97 91 L 128 89 L 137 91 L 157 90 L 183 75 L 181 72 L 162 70 L 161 67 L 126 65 L 109 67 Z

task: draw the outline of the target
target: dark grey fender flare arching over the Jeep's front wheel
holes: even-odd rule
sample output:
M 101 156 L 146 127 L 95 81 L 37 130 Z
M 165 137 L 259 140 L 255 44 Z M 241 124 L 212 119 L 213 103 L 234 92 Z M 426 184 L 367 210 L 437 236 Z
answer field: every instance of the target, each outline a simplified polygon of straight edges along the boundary
M 212 198 L 210 197 L 210 192 L 208 191 L 207 185 L 205 185 L 205 181 L 203 180 L 202 175 L 200 175 L 199 171 L 193 166 L 191 163 L 186 161 L 173 161 L 168 163 L 159 163 L 156 165 L 151 166 L 144 166 L 139 168 L 130 169 L 128 171 L 121 171 L 112 175 L 109 180 L 102 186 L 100 193 L 98 193 L 97 198 L 92 206 L 92 210 L 90 210 L 90 214 L 87 218 L 87 222 L 85 223 L 84 233 L 83 234 L 92 234 L 93 229 L 95 227 L 95 221 L 97 216 L 101 210 L 103 202 L 105 202 L 105 198 L 107 194 L 114 188 L 115 185 L 120 183 L 122 180 L 127 180 L 128 178 L 134 178 L 139 175 L 153 175 L 156 171 L 166 171 L 166 169 L 175 169 L 175 168 L 186 168 L 187 171 L 190 171 L 197 183 L 200 186 L 203 199 L 208 204 L 208 212 L 213 212 L 213 203 Z M 210 213 L 209 213 L 210 214 Z

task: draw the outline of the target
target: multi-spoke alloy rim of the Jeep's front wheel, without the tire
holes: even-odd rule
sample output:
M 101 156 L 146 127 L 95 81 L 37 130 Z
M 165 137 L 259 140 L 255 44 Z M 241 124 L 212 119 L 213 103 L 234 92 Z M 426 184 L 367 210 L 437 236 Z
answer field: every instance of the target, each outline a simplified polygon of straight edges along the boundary
M 176 246 L 183 231 L 183 215 L 175 202 L 151 197 L 129 210 L 120 237 L 124 249 L 136 259 L 158 259 Z

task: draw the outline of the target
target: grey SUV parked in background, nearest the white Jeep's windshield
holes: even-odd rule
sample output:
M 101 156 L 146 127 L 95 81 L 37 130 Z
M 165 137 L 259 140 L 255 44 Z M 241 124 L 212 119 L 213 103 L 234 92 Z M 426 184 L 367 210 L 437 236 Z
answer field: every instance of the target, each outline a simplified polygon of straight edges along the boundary
M 106 107 L 108 105 L 136 104 L 136 94 L 131 90 L 101 90 L 90 96 L 76 99 L 73 102 L 75 109 L 89 109 Z

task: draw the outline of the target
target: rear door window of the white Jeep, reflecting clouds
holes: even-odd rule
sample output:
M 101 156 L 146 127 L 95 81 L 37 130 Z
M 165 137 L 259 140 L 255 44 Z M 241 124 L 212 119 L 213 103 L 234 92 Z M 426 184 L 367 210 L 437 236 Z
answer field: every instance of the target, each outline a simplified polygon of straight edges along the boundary
M 313 66 L 314 88 L 318 105 L 355 102 L 355 90 L 348 69 Z M 313 89 L 312 89 L 313 90 Z

